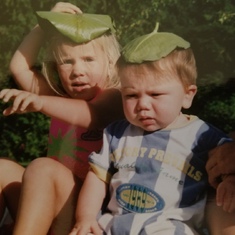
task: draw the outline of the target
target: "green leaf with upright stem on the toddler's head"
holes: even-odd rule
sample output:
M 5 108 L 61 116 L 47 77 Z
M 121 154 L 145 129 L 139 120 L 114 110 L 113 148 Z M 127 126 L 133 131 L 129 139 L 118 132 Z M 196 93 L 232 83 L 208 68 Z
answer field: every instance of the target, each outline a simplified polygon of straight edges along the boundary
M 122 56 L 126 62 L 142 63 L 156 61 L 167 56 L 174 49 L 190 47 L 190 43 L 173 33 L 158 32 L 159 23 L 152 33 L 140 36 L 123 48 Z

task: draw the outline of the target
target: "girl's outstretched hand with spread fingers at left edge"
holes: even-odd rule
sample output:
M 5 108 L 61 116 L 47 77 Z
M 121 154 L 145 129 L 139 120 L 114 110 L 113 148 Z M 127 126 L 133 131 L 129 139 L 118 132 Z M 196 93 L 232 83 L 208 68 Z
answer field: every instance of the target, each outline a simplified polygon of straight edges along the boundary
M 43 102 L 40 96 L 17 89 L 4 89 L 0 92 L 0 99 L 4 102 L 12 101 L 12 106 L 3 111 L 8 116 L 13 113 L 38 112 L 42 109 Z

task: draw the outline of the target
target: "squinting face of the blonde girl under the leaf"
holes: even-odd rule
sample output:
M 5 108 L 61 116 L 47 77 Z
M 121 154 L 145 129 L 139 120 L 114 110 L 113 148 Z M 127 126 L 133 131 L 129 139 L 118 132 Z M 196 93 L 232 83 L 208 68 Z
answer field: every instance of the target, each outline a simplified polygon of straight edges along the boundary
M 67 94 L 75 99 L 93 99 L 104 87 L 108 76 L 108 59 L 100 46 L 89 42 L 63 44 L 59 49 L 63 62 L 57 65 L 57 69 Z

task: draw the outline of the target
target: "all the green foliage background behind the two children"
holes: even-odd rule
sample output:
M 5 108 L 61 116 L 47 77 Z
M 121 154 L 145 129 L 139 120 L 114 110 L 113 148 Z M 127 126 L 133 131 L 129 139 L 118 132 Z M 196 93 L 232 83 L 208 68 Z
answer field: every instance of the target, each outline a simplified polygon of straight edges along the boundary
M 16 87 L 9 62 L 36 24 L 35 11 L 50 10 L 55 0 L 2 0 L 0 4 L 0 89 Z M 234 0 L 74 0 L 83 12 L 109 14 L 121 45 L 141 34 L 176 33 L 191 43 L 198 66 L 199 91 L 190 113 L 223 131 L 235 130 Z M 42 54 L 39 56 L 38 65 Z M 2 116 L 0 156 L 25 164 L 45 156 L 49 118 L 39 114 Z

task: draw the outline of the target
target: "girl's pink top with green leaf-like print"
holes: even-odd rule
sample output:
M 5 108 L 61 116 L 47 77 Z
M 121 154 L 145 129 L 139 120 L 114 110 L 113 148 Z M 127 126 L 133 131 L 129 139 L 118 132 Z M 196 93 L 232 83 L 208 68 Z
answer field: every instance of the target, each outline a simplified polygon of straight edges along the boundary
M 61 162 L 80 179 L 88 169 L 88 155 L 102 147 L 103 130 L 87 130 L 51 119 L 47 156 Z

